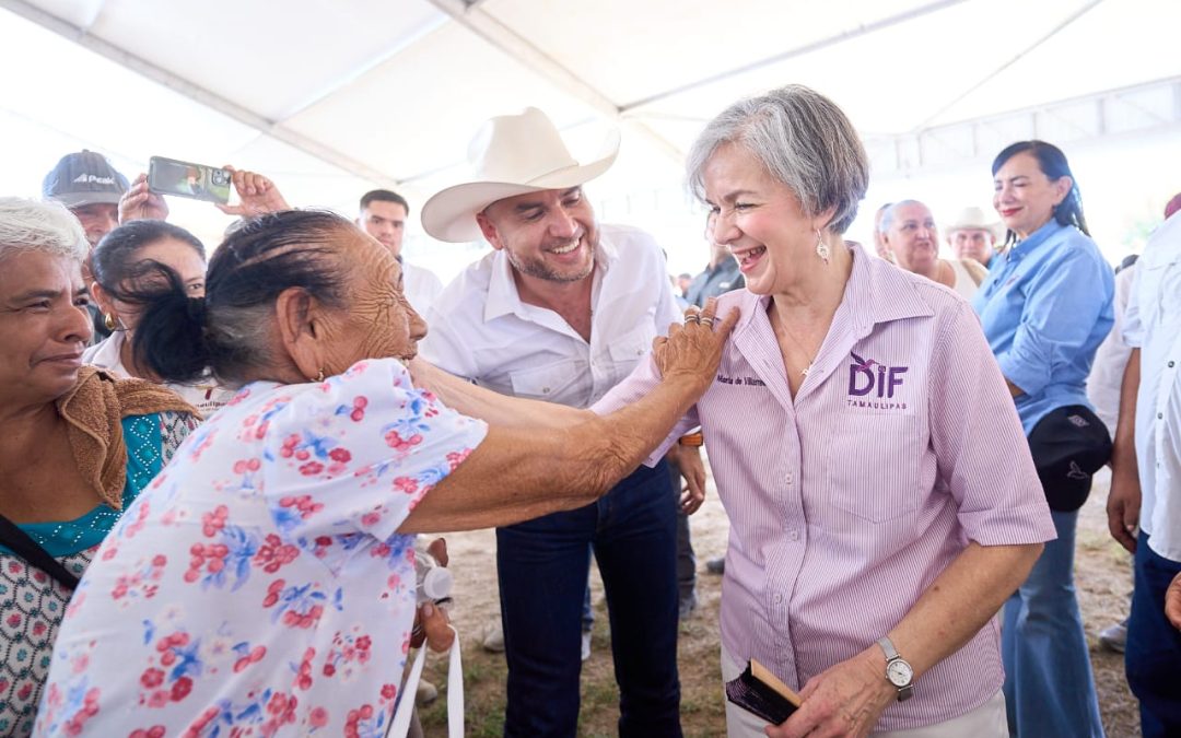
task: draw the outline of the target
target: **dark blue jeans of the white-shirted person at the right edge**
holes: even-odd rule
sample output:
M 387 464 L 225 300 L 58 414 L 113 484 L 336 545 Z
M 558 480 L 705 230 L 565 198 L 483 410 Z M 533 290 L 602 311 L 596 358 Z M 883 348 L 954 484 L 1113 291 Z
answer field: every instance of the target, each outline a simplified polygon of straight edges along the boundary
M 1128 685 L 1140 700 L 1144 738 L 1181 736 L 1181 632 L 1164 616 L 1164 590 L 1181 572 L 1148 548 L 1143 533 L 1136 542 L 1136 588 L 1128 618 L 1124 666 Z

